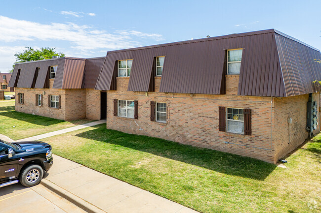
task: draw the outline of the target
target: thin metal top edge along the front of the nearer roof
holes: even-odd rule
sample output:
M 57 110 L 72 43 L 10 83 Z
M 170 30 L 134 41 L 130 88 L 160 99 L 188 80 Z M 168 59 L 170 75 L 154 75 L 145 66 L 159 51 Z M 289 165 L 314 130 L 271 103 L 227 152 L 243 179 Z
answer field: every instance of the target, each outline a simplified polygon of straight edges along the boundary
M 232 34 L 219 35 L 219 36 L 209 37 L 209 38 L 199 38 L 199 39 L 194 39 L 194 40 L 175 41 L 175 42 L 164 43 L 164 44 L 156 44 L 156 45 L 143 46 L 143 47 L 134 47 L 134 48 L 128 48 L 128 49 L 121 49 L 121 50 L 112 50 L 112 51 L 108 51 L 107 54 L 108 53 L 125 52 L 125 51 L 151 49 L 151 48 L 158 48 L 158 47 L 164 47 L 164 46 L 174 46 L 174 45 L 180 45 L 180 44 L 197 43 L 197 42 L 203 42 L 203 41 L 212 41 L 212 40 L 219 40 L 219 39 L 225 39 L 225 38 L 231 38 L 231 37 L 242 37 L 242 36 L 247 36 L 247 35 L 265 34 L 265 33 L 271 33 L 271 32 L 275 32 L 275 30 L 268 29 L 268 30 L 257 30 L 257 31 L 250 31 L 250 32 L 232 33 Z

